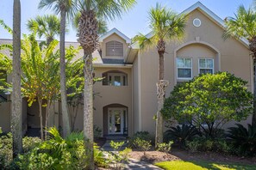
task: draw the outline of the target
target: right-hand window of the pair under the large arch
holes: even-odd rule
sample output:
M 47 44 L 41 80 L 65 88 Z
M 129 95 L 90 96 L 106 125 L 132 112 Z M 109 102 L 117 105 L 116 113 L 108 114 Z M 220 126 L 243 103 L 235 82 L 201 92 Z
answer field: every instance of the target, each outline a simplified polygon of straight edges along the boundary
M 200 58 L 199 59 L 199 74 L 214 73 L 214 59 Z

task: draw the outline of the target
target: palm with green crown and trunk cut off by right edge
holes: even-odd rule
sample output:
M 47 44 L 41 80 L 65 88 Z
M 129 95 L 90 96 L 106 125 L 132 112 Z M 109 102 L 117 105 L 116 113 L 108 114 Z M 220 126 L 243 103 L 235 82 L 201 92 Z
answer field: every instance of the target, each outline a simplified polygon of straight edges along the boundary
M 256 12 L 253 9 L 245 9 L 241 5 L 234 17 L 228 17 L 225 19 L 226 30 L 223 33 L 223 38 L 228 39 L 234 37 L 235 39 L 245 38 L 249 42 L 249 49 L 252 52 L 254 63 L 254 112 L 252 124 L 256 124 Z

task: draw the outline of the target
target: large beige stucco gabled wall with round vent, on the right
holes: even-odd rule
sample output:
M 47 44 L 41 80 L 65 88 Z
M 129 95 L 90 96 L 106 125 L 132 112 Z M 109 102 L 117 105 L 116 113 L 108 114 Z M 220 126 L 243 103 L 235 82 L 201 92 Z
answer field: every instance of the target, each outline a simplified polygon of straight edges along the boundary
M 192 21 L 199 18 L 201 27 L 194 27 Z M 177 82 L 176 57 L 193 58 L 193 76 L 198 74 L 198 58 L 215 58 L 215 70 L 228 71 L 248 82 L 252 90 L 252 63 L 246 46 L 235 39 L 222 39 L 223 29 L 199 10 L 190 13 L 182 42 L 170 42 L 165 53 L 165 79 L 170 81 L 166 90 L 169 96 Z M 186 46 L 187 45 L 187 46 Z M 154 133 L 153 115 L 157 112 L 156 82 L 158 80 L 158 53 L 155 49 L 141 54 L 141 100 L 142 131 Z M 247 122 L 250 122 L 248 118 Z

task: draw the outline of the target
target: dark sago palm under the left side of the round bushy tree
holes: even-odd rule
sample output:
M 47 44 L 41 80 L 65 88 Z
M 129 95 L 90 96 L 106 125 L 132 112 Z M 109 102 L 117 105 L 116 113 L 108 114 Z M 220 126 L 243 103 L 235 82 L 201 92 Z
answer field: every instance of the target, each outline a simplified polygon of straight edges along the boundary
M 178 143 L 181 146 L 184 146 L 186 141 L 190 141 L 192 137 L 198 135 L 197 128 L 192 125 L 182 124 L 177 127 L 170 127 L 170 130 L 165 131 L 164 138 L 165 141 L 173 140 L 174 143 Z

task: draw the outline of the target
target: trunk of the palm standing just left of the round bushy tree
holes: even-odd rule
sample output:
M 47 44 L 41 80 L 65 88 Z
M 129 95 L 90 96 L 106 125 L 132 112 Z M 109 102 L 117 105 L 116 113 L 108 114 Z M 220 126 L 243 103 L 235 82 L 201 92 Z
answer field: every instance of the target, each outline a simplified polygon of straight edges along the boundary
M 165 88 L 168 85 L 168 81 L 164 80 L 165 73 L 165 41 L 160 39 L 158 42 L 158 52 L 159 52 L 159 82 L 157 83 L 157 97 L 158 97 L 158 112 L 156 120 L 156 132 L 155 132 L 155 146 L 158 143 L 163 143 L 163 116 L 161 114 L 161 109 L 164 106 L 165 101 Z

